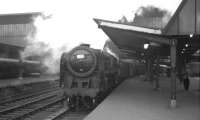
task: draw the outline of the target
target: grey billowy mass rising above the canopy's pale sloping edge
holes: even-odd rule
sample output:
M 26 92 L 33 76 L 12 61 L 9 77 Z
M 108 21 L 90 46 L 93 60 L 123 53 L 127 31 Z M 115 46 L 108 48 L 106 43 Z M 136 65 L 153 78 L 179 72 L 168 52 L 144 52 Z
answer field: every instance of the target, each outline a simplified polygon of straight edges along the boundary
M 122 16 L 118 22 L 162 29 L 167 25 L 170 18 L 171 13 L 165 9 L 155 6 L 141 6 L 136 10 L 132 20 L 129 20 L 127 16 Z

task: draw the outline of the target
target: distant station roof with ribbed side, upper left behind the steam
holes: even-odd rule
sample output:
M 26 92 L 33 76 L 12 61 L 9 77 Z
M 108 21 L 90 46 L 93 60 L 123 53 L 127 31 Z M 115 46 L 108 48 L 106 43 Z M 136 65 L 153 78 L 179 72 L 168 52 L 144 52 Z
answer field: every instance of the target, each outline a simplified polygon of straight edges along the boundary
M 39 12 L 0 15 L 0 44 L 24 48 L 27 36 L 34 32 L 34 17 Z

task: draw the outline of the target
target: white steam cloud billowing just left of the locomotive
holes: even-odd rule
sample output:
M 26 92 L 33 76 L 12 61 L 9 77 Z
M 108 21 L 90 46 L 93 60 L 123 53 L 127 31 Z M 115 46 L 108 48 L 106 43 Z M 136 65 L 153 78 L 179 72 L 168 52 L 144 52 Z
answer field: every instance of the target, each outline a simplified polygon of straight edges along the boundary
M 52 16 L 38 16 L 33 18 L 34 30 L 27 36 L 28 46 L 23 51 L 24 59 L 39 60 L 42 63 L 42 72 L 57 74 L 60 68 L 60 57 L 63 52 L 80 44 L 80 42 L 65 41 L 57 32 L 57 19 Z M 66 35 L 64 35 L 66 36 Z

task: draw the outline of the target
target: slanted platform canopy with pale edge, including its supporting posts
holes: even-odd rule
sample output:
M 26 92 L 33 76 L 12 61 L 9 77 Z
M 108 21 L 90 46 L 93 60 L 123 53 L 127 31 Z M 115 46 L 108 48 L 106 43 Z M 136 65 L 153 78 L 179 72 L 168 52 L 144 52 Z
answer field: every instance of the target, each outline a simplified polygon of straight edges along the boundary
M 146 78 L 152 81 L 153 61 L 158 56 L 170 56 L 171 64 L 171 106 L 176 104 L 176 43 L 175 39 L 162 35 L 161 30 L 137 27 L 122 23 L 94 19 L 122 53 L 135 53 L 137 60 L 146 60 Z M 148 44 L 148 47 L 144 47 Z M 123 59 L 123 58 L 122 58 Z M 157 64 L 158 65 L 158 64 Z M 175 102 L 174 102 L 175 101 Z M 175 104 L 173 104 L 175 103 Z

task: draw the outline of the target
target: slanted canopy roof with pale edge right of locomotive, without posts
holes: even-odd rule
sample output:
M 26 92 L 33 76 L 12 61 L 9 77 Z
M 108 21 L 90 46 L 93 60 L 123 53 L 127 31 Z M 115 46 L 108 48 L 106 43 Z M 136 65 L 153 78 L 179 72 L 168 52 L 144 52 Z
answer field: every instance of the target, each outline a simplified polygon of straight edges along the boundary
M 108 37 L 118 46 L 122 53 L 143 54 L 146 52 L 145 44 L 149 45 L 148 50 L 155 49 L 160 55 L 169 54 L 170 39 L 163 36 L 161 30 L 137 27 L 113 21 L 94 19 Z

